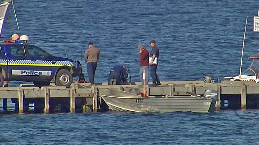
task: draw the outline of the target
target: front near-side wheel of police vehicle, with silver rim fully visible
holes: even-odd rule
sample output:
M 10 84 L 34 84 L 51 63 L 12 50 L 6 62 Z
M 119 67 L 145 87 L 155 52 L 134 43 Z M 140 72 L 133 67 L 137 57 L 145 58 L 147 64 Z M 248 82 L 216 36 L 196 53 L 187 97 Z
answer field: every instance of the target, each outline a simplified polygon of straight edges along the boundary
M 72 74 L 66 69 L 61 69 L 56 75 L 55 84 L 56 86 L 66 86 L 67 88 L 69 88 L 72 81 Z

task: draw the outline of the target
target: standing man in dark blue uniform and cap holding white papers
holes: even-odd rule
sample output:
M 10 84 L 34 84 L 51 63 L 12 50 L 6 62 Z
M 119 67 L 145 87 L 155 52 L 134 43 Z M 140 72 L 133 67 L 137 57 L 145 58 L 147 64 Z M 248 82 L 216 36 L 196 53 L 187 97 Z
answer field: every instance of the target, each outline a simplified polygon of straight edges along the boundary
M 152 82 L 151 86 L 158 86 L 161 85 L 159 77 L 157 75 L 157 65 L 158 65 L 158 57 L 159 57 L 159 48 L 156 46 L 155 40 L 150 41 L 150 47 L 152 48 L 150 52 L 150 59 L 149 59 L 149 65 L 150 65 L 150 70 L 151 70 L 151 77 L 152 77 Z

